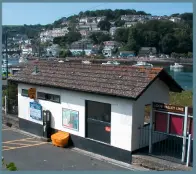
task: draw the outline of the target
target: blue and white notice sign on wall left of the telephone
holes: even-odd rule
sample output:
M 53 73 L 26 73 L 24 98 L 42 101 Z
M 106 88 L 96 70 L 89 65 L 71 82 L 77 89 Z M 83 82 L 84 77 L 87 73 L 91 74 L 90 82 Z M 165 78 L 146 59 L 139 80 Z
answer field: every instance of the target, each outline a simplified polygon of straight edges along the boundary
M 30 117 L 35 120 L 42 120 L 42 106 L 36 102 L 30 102 Z

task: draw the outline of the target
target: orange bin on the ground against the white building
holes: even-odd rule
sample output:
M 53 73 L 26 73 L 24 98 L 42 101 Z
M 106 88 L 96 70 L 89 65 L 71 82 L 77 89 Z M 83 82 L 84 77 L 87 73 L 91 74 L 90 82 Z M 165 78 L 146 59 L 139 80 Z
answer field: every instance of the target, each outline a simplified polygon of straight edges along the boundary
M 58 147 L 65 147 L 68 145 L 69 133 L 58 131 L 51 135 L 52 144 Z

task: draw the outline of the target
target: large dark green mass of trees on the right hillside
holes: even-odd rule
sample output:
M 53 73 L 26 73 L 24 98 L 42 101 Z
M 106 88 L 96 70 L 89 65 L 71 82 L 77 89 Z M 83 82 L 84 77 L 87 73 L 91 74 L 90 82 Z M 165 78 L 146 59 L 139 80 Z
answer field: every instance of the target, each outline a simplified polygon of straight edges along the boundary
M 128 41 L 124 40 L 125 48 L 136 53 L 141 47 L 156 47 L 159 53 L 165 54 L 193 52 L 192 28 L 189 24 L 152 20 L 131 27 L 124 37 L 123 30 L 117 30 L 115 39 L 123 41 L 128 36 Z

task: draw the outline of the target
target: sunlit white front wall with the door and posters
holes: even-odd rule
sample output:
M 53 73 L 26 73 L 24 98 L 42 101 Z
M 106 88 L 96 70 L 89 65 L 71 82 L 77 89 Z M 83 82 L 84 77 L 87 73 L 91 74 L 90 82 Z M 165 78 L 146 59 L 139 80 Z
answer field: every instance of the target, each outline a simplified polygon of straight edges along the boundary
M 22 89 L 36 87 L 33 85 L 18 85 L 18 105 L 19 118 L 30 120 L 42 124 L 42 121 L 36 121 L 29 116 L 29 102 L 32 101 L 27 97 L 21 96 Z M 132 135 L 132 105 L 130 100 L 93 95 L 89 93 L 67 91 L 46 87 L 36 87 L 37 91 L 51 93 L 61 96 L 61 103 L 49 101 L 39 101 L 43 110 L 50 110 L 52 113 L 51 127 L 69 132 L 74 135 L 85 137 L 85 100 L 92 100 L 111 104 L 111 145 L 131 151 Z M 79 111 L 79 131 L 67 129 L 62 126 L 62 108 Z

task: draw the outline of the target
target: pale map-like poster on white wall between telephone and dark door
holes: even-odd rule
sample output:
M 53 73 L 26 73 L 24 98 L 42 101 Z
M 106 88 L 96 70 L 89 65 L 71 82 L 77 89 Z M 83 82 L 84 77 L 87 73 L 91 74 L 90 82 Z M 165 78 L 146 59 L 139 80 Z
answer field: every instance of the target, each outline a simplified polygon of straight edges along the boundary
M 73 129 L 79 130 L 79 112 L 73 111 L 70 109 L 63 109 L 63 118 L 62 118 L 63 126 Z

